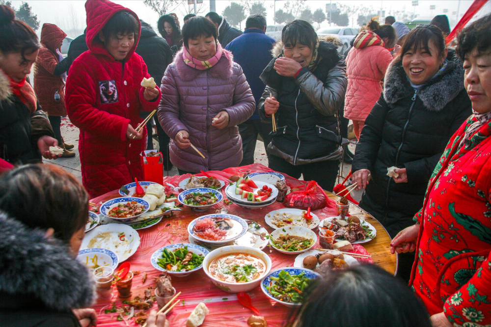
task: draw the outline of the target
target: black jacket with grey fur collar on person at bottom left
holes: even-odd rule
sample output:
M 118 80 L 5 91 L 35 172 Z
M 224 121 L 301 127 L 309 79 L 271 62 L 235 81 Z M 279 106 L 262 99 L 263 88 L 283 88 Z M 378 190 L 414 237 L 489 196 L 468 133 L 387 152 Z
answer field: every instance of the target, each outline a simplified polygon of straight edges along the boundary
M 0 212 L 0 326 L 79 326 L 70 309 L 95 293 L 85 266 L 66 245 Z

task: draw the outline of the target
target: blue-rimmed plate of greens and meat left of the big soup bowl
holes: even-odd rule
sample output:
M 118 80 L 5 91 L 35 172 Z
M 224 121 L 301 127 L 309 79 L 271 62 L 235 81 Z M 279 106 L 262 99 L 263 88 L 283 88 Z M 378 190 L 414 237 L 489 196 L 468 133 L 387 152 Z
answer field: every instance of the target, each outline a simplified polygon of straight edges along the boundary
M 208 253 L 210 252 L 200 245 L 176 243 L 159 248 L 150 257 L 150 262 L 161 272 L 184 277 L 201 269 Z

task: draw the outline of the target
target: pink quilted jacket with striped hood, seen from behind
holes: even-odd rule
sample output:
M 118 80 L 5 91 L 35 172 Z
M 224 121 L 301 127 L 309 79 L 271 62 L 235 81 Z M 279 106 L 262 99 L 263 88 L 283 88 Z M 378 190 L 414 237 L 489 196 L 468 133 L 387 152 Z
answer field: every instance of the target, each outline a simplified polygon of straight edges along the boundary
M 392 54 L 374 32 L 363 30 L 356 36 L 353 49 L 346 57 L 346 118 L 365 121 L 380 98 L 381 81 L 392 59 Z

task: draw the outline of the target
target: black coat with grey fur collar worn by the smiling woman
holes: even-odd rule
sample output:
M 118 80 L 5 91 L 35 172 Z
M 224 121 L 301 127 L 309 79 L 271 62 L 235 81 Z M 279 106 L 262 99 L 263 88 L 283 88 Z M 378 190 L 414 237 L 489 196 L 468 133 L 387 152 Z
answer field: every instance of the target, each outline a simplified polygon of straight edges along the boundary
M 352 171 L 368 169 L 372 180 L 361 204 L 392 234 L 409 224 L 423 205 L 430 175 L 450 136 L 472 113 L 462 62 L 449 50 L 448 64 L 416 92 L 400 61 L 385 73 L 384 91 L 365 121 Z M 408 183 L 396 184 L 387 168 L 406 168 Z M 380 209 L 379 211 L 374 208 Z M 410 217 L 408 219 L 408 217 Z M 401 219 L 399 219 L 401 218 Z

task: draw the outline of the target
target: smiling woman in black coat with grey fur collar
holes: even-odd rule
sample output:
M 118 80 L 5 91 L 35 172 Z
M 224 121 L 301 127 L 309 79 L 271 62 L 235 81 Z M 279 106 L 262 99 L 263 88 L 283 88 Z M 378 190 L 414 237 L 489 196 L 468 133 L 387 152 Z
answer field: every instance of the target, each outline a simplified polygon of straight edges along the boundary
M 387 69 L 352 166 L 357 190 L 366 188 L 360 207 L 391 237 L 414 223 L 443 149 L 470 114 L 462 62 L 445 48 L 441 30 L 429 25 L 411 30 Z M 397 177 L 387 176 L 393 166 Z M 414 254 L 399 259 L 398 274 L 409 280 Z

